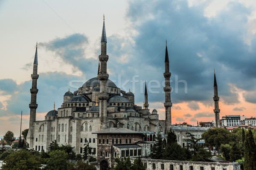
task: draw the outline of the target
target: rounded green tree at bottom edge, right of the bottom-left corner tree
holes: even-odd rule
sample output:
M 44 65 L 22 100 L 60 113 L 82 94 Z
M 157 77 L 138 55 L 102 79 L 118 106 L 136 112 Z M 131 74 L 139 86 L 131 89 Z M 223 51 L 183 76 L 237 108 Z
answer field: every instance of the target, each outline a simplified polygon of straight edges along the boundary
M 64 150 L 53 150 L 49 156 L 45 170 L 67 170 L 68 154 Z

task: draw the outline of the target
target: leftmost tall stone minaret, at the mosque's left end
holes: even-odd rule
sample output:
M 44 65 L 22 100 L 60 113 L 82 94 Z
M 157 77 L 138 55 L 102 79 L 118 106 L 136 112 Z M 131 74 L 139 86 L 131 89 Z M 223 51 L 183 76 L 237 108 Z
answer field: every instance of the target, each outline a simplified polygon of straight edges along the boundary
M 34 59 L 34 65 L 33 65 L 33 74 L 31 74 L 32 78 L 32 88 L 30 89 L 31 93 L 31 102 L 29 104 L 30 108 L 30 117 L 29 117 L 29 132 L 28 132 L 28 142 L 29 142 L 29 147 L 33 147 L 33 140 L 34 140 L 34 125 L 33 123 L 35 122 L 35 113 L 36 113 L 36 108 L 38 107 L 38 104 L 36 104 L 36 94 L 38 93 L 37 89 L 37 79 L 39 75 L 37 74 L 38 70 L 38 57 L 37 57 L 37 43 L 36 43 L 36 49 L 35 49 L 35 59 Z

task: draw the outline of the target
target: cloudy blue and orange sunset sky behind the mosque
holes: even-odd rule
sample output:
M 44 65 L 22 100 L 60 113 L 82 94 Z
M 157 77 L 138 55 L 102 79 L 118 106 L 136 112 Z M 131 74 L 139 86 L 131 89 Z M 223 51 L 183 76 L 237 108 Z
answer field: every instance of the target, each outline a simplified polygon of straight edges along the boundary
M 32 63 L 38 42 L 36 120 L 60 108 L 98 70 L 103 14 L 108 74 L 165 119 L 167 41 L 172 123 L 214 120 L 214 69 L 220 117 L 256 112 L 255 0 L 0 1 L 0 136 L 29 127 Z

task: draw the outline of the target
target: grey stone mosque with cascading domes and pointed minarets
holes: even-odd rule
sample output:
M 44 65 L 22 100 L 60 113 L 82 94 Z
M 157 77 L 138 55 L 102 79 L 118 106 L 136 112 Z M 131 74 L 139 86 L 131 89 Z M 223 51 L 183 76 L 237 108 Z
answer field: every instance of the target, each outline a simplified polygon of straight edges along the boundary
M 172 127 L 177 141 L 186 146 L 186 132 L 201 137 L 206 127 L 173 126 L 171 117 L 171 87 L 169 56 L 166 44 L 165 54 L 165 102 L 166 119 L 160 120 L 157 110 L 151 113 L 148 109 L 148 93 L 145 84 L 145 101 L 143 106 L 134 103 L 134 94 L 118 88 L 108 79 L 107 73 L 107 37 L 105 20 L 101 38 L 101 55 L 99 55 L 98 75 L 85 82 L 78 91 L 64 93 L 63 104 L 49 111 L 44 120 L 36 121 L 36 96 L 38 55 L 37 46 L 33 65 L 32 88 L 27 142 L 35 150 L 47 150 L 49 144 L 56 140 L 59 145 L 70 144 L 76 154 L 83 153 L 85 143 L 92 147 L 92 156 L 99 162 L 99 169 L 107 169 L 113 159 L 120 156 L 148 157 L 158 132 L 166 142 L 166 133 Z M 215 79 L 216 82 L 216 79 Z M 214 82 L 214 85 L 215 85 Z M 216 82 L 217 86 L 217 82 Z M 215 115 L 219 113 L 218 92 L 214 96 Z

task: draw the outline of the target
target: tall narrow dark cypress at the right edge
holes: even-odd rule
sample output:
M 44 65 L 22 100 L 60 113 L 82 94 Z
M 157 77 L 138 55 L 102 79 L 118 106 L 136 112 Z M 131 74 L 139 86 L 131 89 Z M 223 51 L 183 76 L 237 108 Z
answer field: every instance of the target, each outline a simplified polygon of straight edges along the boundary
M 256 144 L 253 133 L 249 129 L 244 140 L 244 170 L 255 170 L 256 168 Z

